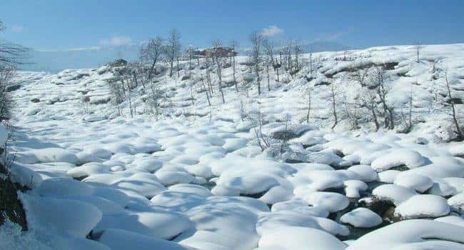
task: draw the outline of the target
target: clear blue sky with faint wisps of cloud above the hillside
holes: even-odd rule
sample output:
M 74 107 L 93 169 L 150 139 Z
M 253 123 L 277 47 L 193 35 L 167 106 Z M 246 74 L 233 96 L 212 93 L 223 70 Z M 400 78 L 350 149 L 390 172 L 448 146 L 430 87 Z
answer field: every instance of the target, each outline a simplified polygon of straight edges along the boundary
M 1 0 L 3 39 L 41 50 L 136 44 L 176 28 L 183 44 L 208 46 L 253 30 L 276 40 L 347 46 L 464 42 L 464 1 Z

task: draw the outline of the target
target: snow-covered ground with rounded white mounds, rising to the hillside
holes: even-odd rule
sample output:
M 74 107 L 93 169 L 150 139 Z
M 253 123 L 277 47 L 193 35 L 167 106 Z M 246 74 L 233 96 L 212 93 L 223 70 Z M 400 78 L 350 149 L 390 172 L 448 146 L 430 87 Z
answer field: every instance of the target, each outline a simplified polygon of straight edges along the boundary
M 464 249 L 464 144 L 443 143 L 443 114 L 430 111 L 435 64 L 446 64 L 456 89 L 464 84 L 464 45 L 425 46 L 419 63 L 412 46 L 343 56 L 313 54 L 319 68 L 309 83 L 303 74 L 282 75 L 287 83 L 271 81 L 267 91 L 264 78 L 263 94 L 252 87 L 248 97 L 230 86 L 226 104 L 216 91 L 211 108 L 193 86 L 204 71 L 185 81 L 158 76 L 172 96 L 164 110 L 172 117 L 158 120 L 136 93 L 136 115 L 116 115 L 106 67 L 21 72 L 9 152 L 12 177 L 32 188 L 20 195 L 29 231 L 4 226 L 0 246 Z M 423 122 L 410 134 L 347 131 L 343 123 L 327 129 L 328 86 L 320 83 L 343 81 L 353 65 L 392 62 L 390 99 L 400 105 L 412 88 Z M 230 81 L 231 69 L 224 75 Z M 243 82 L 246 66 L 237 75 Z M 310 124 L 301 122 L 308 86 Z M 288 143 L 298 153 L 291 161 L 261 151 L 253 124 L 241 120 L 241 109 L 252 108 L 266 116 L 265 136 L 286 130 L 291 114 Z

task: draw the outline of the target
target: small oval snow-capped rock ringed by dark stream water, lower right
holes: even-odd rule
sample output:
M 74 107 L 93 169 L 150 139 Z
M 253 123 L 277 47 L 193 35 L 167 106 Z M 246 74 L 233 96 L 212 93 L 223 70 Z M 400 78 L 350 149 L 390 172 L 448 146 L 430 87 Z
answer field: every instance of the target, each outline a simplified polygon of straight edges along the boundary
M 369 228 L 380 225 L 382 223 L 382 218 L 373 211 L 360 207 L 343 214 L 340 221 L 353 225 L 354 227 Z

